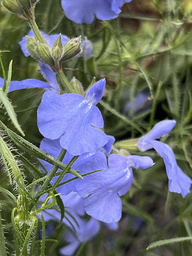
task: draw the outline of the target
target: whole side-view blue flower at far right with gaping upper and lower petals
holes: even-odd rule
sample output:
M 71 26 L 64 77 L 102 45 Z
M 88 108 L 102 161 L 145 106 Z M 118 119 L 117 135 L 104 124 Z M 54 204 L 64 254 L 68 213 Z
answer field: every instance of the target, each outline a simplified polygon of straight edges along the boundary
M 175 124 L 175 120 L 158 122 L 148 134 L 141 137 L 137 146 L 142 151 L 154 148 L 157 153 L 163 157 L 167 176 L 169 178 L 169 191 L 181 194 L 184 198 L 190 192 L 189 189 L 192 180 L 183 173 L 179 166 L 177 166 L 172 148 L 170 148 L 169 145 L 156 140 L 167 135 Z

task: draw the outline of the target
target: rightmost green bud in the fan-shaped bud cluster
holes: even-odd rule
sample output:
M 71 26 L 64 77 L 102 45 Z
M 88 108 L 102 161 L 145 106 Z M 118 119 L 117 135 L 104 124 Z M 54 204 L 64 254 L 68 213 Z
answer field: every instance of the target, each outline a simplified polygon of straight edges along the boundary
M 63 47 L 63 56 L 61 61 L 67 61 L 75 57 L 81 51 L 81 36 L 69 40 Z

